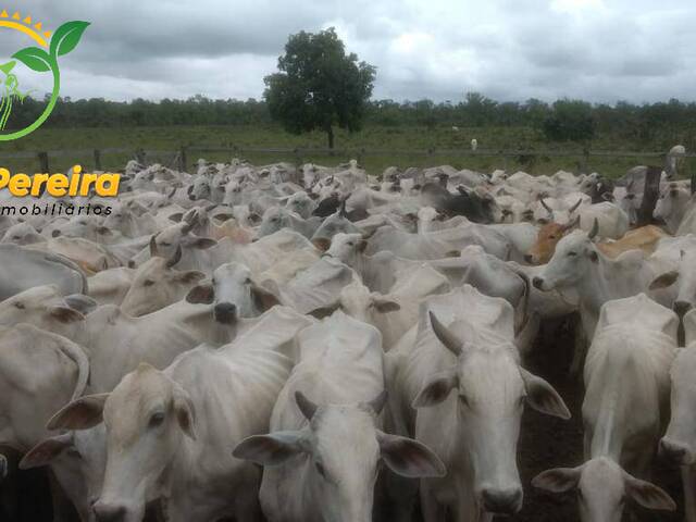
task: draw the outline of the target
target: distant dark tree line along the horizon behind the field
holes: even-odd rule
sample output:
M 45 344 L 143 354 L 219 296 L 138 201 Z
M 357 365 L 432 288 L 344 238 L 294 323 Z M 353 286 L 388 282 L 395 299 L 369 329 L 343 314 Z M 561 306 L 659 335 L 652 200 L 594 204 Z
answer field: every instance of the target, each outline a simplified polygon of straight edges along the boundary
M 26 98 L 15 103 L 8 128 L 30 124 L 46 107 L 45 100 Z M 586 141 L 593 134 L 611 135 L 636 146 L 654 147 L 656 141 L 683 141 L 696 148 L 696 103 L 668 102 L 616 105 L 589 104 L 577 100 L 546 103 L 498 102 L 470 92 L 460 101 L 435 103 L 431 100 L 372 100 L 364 103 L 364 124 L 388 127 L 437 126 L 526 127 L 549 140 Z M 212 100 L 197 95 L 187 100 L 159 102 L 136 99 L 130 102 L 101 98 L 63 98 L 44 124 L 46 127 L 134 127 L 170 125 L 272 125 L 266 101 Z M 353 123 L 351 123 L 353 125 Z M 359 127 L 352 127 L 353 129 Z M 322 130 L 320 128 L 320 130 Z M 693 145 L 689 145 L 693 144 Z

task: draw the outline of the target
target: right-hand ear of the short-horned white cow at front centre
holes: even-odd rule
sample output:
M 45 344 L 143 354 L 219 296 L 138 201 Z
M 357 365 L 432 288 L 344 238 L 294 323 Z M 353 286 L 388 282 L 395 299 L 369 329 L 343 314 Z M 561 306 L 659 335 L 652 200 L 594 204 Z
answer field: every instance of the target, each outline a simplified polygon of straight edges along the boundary
M 377 432 L 380 455 L 396 474 L 409 478 L 445 476 L 447 469 L 437 455 L 412 438 Z

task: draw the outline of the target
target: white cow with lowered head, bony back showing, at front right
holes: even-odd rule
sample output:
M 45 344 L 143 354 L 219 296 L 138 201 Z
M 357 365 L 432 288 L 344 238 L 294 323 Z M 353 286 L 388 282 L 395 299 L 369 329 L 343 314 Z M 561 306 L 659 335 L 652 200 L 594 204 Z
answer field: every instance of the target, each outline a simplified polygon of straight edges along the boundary
M 649 474 L 663 417 L 679 318 L 645 294 L 609 301 L 585 363 L 585 460 L 549 470 L 533 484 L 554 493 L 577 489 L 583 522 L 620 522 L 624 500 L 674 510 Z

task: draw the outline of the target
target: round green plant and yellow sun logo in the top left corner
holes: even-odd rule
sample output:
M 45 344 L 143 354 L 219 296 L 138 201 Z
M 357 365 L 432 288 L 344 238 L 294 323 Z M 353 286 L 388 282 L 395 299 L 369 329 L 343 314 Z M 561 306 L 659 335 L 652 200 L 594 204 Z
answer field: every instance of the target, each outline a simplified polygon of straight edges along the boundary
M 73 51 L 85 33 L 89 22 L 73 21 L 61 25 L 55 33 L 46 30 L 40 22 L 36 23 L 30 16 L 22 17 L 18 12 L 10 15 L 8 11 L 0 13 L 0 29 L 11 29 L 22 33 L 38 47 L 25 47 L 12 54 L 9 62 L 0 63 L 0 141 L 10 141 L 33 133 L 50 116 L 58 102 L 61 87 L 59 58 Z M 0 57 L 0 62 L 2 57 Z M 17 66 L 17 62 L 23 64 Z M 30 125 L 7 132 L 5 127 L 12 116 L 15 103 L 22 103 L 28 92 L 20 85 L 20 69 L 28 69 L 34 73 L 49 73 L 53 77 L 53 89 L 44 112 Z M 22 74 L 25 74 L 24 71 Z

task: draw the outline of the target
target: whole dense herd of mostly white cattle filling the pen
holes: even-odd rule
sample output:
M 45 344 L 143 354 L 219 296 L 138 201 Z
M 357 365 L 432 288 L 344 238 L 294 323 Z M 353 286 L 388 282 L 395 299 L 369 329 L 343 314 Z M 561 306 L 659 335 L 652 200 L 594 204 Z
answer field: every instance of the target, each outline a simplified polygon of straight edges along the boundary
M 524 408 L 570 418 L 525 359 L 576 314 L 584 463 L 532 485 L 674 510 L 659 452 L 694 522 L 696 197 L 668 170 L 638 227 L 647 173 L 133 161 L 73 201 L 109 215 L 3 215 L 0 448 L 55 520 L 490 521 Z

